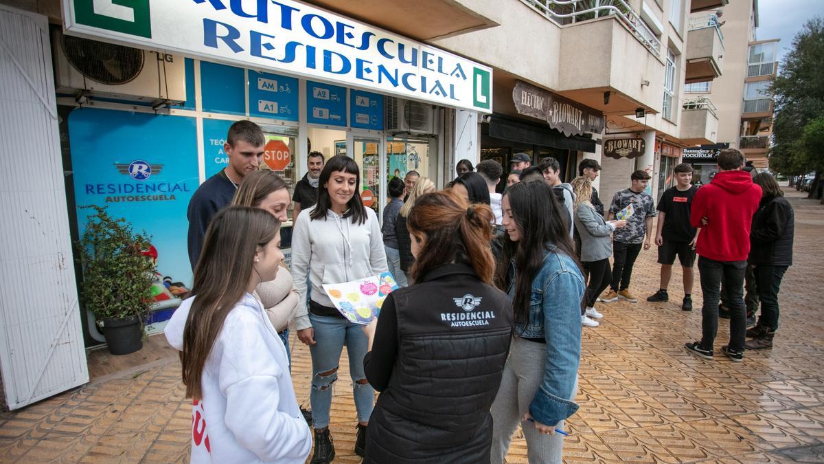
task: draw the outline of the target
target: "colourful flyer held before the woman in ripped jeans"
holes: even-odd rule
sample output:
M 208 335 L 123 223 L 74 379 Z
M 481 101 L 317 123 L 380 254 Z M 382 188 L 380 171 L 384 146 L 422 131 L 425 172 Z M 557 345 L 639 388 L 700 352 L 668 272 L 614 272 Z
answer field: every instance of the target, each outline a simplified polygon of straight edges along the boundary
M 368 325 L 381 312 L 386 295 L 398 288 L 391 272 L 357 281 L 323 284 L 340 314 L 355 324 Z

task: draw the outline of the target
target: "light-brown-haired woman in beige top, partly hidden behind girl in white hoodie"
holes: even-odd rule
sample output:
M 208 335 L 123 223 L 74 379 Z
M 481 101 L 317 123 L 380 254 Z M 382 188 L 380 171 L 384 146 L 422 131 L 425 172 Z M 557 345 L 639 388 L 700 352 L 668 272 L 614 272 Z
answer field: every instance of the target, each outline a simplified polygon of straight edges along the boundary
M 240 187 L 237 187 L 232 205 L 252 206 L 269 211 L 281 224 L 288 220 L 287 211 L 292 200 L 289 188 L 274 171 L 253 171 L 246 174 Z M 289 323 L 297 312 L 297 289 L 292 274 L 281 267 L 278 276 L 271 282 L 260 282 L 253 293 L 269 315 L 274 329 L 286 346 L 286 355 L 291 365 L 292 353 L 289 351 Z

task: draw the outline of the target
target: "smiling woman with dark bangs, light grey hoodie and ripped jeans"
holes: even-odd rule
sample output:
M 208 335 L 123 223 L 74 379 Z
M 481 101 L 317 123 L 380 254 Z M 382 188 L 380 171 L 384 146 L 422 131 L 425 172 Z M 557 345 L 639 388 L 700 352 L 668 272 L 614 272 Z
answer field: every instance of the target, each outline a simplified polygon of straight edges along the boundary
M 375 212 L 363 206 L 360 170 L 348 156 L 326 162 L 318 179 L 317 203 L 301 211 L 292 234 L 292 272 L 309 276 L 295 286 L 301 306 L 295 316 L 297 338 L 309 345 L 312 379 L 309 400 L 315 452 L 311 462 L 330 462 L 335 447 L 329 433 L 332 384 L 338 378 L 340 353 L 346 345 L 352 376 L 358 438 L 355 452 L 363 456 L 366 427 L 372 414 L 375 391 L 363 374 L 367 337 L 361 325 L 353 324 L 335 309 L 323 284 L 351 282 L 388 270 L 381 226 Z M 308 305 L 303 305 L 307 301 Z

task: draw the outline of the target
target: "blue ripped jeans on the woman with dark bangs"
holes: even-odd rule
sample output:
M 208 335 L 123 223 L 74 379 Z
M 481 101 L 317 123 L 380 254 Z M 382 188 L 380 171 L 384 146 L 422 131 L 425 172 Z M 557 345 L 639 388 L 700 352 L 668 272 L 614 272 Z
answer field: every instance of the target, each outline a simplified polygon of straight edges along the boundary
M 368 422 L 375 407 L 375 391 L 363 373 L 363 357 L 366 356 L 368 339 L 363 325 L 348 320 L 309 313 L 315 329 L 316 344 L 309 347 L 311 353 L 311 403 L 312 427 L 329 426 L 329 410 L 332 405 L 332 384 L 338 380 L 340 353 L 346 345 L 349 353 L 349 373 L 352 376 L 355 409 L 358 422 Z

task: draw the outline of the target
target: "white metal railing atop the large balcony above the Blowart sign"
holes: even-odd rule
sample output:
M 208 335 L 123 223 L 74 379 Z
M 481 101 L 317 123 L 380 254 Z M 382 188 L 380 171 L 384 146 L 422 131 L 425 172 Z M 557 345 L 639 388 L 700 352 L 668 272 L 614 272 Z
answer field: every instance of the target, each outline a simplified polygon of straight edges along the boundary
M 650 52 L 661 54 L 661 40 L 644 24 L 624 0 L 521 0 L 559 24 L 588 21 L 599 17 L 615 16 L 630 28 L 636 39 Z

